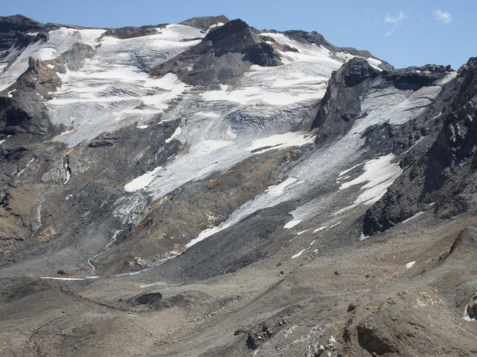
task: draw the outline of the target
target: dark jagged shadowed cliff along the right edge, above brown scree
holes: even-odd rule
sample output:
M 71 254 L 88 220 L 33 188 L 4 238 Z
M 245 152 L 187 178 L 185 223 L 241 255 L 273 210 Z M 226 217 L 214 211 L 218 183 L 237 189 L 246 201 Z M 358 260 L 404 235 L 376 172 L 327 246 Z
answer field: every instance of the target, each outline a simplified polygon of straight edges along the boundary
M 435 69 L 431 79 L 448 70 L 442 66 Z M 389 229 L 418 212 L 425 203 L 435 202 L 434 210 L 448 218 L 466 212 L 473 205 L 466 193 L 471 189 L 477 160 L 476 71 L 477 59 L 469 59 L 459 69 L 456 80 L 436 99 L 436 105 L 440 104 L 442 109 L 435 113 L 430 146 L 427 151 L 406 158 L 412 163 L 410 168 L 369 208 L 364 218 L 366 234 Z M 416 84 L 431 79 L 411 80 Z

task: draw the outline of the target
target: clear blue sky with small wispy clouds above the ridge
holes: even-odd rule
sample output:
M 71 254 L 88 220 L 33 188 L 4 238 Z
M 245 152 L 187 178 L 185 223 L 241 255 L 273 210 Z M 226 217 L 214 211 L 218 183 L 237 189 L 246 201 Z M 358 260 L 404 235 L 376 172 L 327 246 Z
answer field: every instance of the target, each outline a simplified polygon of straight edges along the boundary
M 41 22 L 120 27 L 224 14 L 259 29 L 318 31 L 331 43 L 367 49 L 400 68 L 457 69 L 477 56 L 475 0 L 0 0 L 0 15 Z

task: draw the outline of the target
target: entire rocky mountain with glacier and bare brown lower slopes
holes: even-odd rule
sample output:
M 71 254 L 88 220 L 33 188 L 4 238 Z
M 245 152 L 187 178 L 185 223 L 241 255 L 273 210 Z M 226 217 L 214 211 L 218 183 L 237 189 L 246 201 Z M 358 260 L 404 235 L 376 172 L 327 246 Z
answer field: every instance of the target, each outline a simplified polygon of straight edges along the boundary
M 477 354 L 477 58 L 0 33 L 2 356 Z

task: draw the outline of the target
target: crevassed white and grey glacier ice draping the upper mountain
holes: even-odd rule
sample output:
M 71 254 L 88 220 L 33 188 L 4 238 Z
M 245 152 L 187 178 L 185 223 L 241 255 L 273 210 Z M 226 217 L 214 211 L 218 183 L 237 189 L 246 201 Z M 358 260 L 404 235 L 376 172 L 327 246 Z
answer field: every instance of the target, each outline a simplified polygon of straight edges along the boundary
M 185 23 L 196 22 L 191 19 Z M 131 166 L 132 162 L 125 163 L 129 172 L 122 177 L 112 177 L 121 187 L 119 197 L 140 195 L 155 205 L 154 202 L 184 185 L 226 173 L 256 156 L 289 148 L 305 150 L 300 159 L 286 163 L 286 169 L 273 169 L 277 181 L 271 182 L 270 187 L 282 187 L 280 190 L 270 188 L 232 203 L 228 207 L 229 214 L 221 215 L 216 226 L 199 234 L 193 230 L 183 235 L 175 252 L 191 245 L 187 236 L 195 236 L 189 239 L 192 242 L 202 240 L 262 209 L 310 196 L 329 180 L 343 180 L 337 174 L 363 156 L 363 135 L 370 127 L 385 122 L 390 125 L 406 123 L 429 106 L 444 84 L 441 80 L 418 90 L 389 86 L 385 76 L 380 75 L 383 68 L 389 68 L 385 62 L 367 52 L 345 52 L 316 33 L 260 32 L 241 20 L 225 25 L 217 22 L 216 26 L 208 28 L 208 31 L 216 32 L 210 36 L 206 31 L 180 24 L 150 26 L 147 35 L 143 35 L 145 30 L 141 31 L 58 26 L 44 32 L 41 39 L 39 34 L 29 33 L 26 36 L 35 40 L 24 48 L 12 47 L 4 55 L 6 65 L 0 73 L 0 82 L 2 88 L 15 88 L 12 83 L 28 68 L 29 57 L 43 61 L 61 79 L 61 87 L 48 94 L 52 98 L 44 100 L 47 118 L 61 130 L 44 142 L 64 143 L 64 155 L 77 153 L 76 164 L 69 156 L 65 156 L 65 163 L 61 164 L 65 167 L 65 186 L 74 186 L 77 178 L 89 179 L 90 172 L 94 171 L 92 168 L 101 162 L 94 154 L 85 152 L 87 145 L 121 148 L 123 144 L 108 140 L 118 140 L 121 135 L 152 138 L 154 132 L 170 125 L 172 131 L 163 138 L 162 144 L 160 141 L 155 143 L 155 148 L 126 145 L 121 149 L 130 150 L 128 155 L 140 163 L 141 171 L 134 175 L 136 170 Z M 115 35 L 124 33 L 128 34 L 125 38 Z M 236 34 L 244 36 L 240 40 L 242 47 L 238 49 L 234 49 Z M 219 73 L 213 79 L 218 85 L 212 86 L 190 85 L 179 79 L 180 74 L 180 78 L 191 80 L 190 74 L 184 76 L 184 71 L 197 71 L 196 67 L 202 63 L 201 56 L 210 56 L 211 50 L 215 53 L 212 56 L 219 58 L 213 61 L 222 61 L 217 62 L 220 68 L 234 66 L 237 60 L 243 61 L 242 72 L 236 73 L 239 77 L 230 80 Z M 269 58 L 266 61 L 252 59 L 257 56 L 254 51 Z M 356 57 L 366 63 L 375 77 L 361 94 L 358 119 L 344 135 L 325 146 L 316 146 L 317 131 L 309 131 L 309 128 L 314 123 L 318 103 L 330 90 L 328 81 L 332 73 Z M 184 66 L 191 58 L 190 68 L 160 76 L 149 73 L 157 72 L 154 68 L 162 64 L 166 64 L 163 68 Z M 229 64 L 228 60 L 232 62 Z M 263 62 L 263 65 L 253 64 L 254 61 Z M 7 91 L 8 96 L 17 95 L 15 89 Z M 125 134 L 115 134 L 124 130 Z M 318 134 L 321 135 L 320 128 Z M 168 149 L 172 147 L 176 149 Z M 158 157 L 167 151 L 172 155 L 166 157 L 167 160 L 159 160 Z M 114 154 L 107 155 L 112 155 L 112 159 Z M 396 163 L 393 161 L 392 165 Z M 101 170 L 110 172 L 108 167 Z M 396 177 L 392 172 L 376 181 L 380 188 L 374 189 L 375 193 L 367 195 L 366 199 L 363 198 L 365 194 L 354 198 L 355 203 L 348 202 L 348 208 L 358 203 L 372 203 L 382 196 Z M 52 176 L 54 174 L 48 173 L 47 177 Z M 363 188 L 373 189 L 372 182 Z M 307 199 L 304 205 L 290 207 L 286 214 L 290 214 L 294 222 L 311 219 L 336 195 L 341 195 L 341 191 Z M 136 200 L 131 202 L 127 212 L 137 210 Z M 337 212 L 346 210 L 342 207 Z M 116 230 L 126 228 L 123 220 L 120 222 Z M 101 251 L 98 247 L 106 244 L 104 238 L 99 242 L 96 238 L 91 239 L 92 252 Z

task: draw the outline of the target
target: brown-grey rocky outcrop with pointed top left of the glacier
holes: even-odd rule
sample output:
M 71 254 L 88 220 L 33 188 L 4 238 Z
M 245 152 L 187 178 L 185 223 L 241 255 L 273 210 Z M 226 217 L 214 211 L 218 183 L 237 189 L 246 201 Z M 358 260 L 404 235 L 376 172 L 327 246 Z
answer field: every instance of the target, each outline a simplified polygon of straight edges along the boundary
M 0 97 L 0 134 L 45 135 L 53 129 L 44 100 L 61 86 L 61 79 L 40 60 L 30 58 L 28 65 L 25 73 L 3 92 L 15 90 L 13 97 Z

